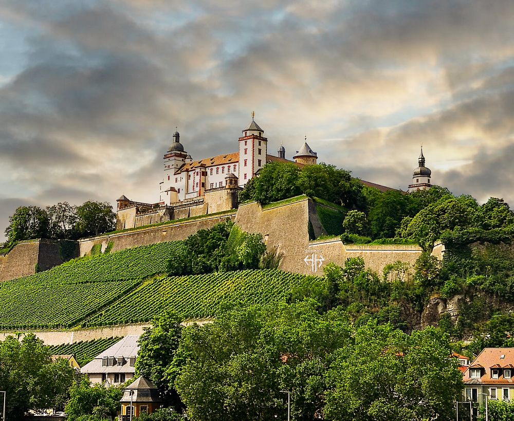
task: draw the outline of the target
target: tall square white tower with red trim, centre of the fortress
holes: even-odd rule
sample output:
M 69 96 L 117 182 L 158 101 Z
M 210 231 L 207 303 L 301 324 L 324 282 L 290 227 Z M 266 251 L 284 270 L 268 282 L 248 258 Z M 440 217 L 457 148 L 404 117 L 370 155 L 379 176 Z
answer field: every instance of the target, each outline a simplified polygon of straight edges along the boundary
M 239 138 L 239 168 L 238 182 L 245 186 L 250 178 L 266 164 L 268 155 L 268 139 L 263 136 L 264 130 L 254 120 L 255 113 L 252 112 L 252 121 L 246 129 L 243 129 L 243 136 Z

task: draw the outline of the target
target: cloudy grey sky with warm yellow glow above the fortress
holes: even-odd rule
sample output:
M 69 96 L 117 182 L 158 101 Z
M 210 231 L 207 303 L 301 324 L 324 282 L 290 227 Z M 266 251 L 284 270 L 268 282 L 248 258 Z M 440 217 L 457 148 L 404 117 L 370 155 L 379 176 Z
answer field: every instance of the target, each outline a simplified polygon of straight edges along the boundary
M 21 205 L 157 202 L 251 121 L 291 159 L 514 207 L 512 0 L 0 0 L 0 241 Z

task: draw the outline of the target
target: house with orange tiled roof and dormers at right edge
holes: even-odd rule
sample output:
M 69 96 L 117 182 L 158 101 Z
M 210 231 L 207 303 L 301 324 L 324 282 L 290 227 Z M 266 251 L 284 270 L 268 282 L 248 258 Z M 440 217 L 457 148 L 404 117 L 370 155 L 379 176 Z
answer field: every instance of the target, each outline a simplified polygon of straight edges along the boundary
M 463 374 L 463 397 L 481 405 L 514 397 L 514 348 L 484 348 Z M 476 416 L 476 406 L 474 408 Z

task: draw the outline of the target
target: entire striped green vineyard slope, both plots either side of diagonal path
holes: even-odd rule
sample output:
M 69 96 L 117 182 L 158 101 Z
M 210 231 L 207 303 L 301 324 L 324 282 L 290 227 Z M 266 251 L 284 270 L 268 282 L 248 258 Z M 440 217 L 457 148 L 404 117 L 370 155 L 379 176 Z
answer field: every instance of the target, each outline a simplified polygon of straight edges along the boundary
M 303 278 L 278 270 L 166 277 L 182 242 L 79 258 L 0 283 L 0 328 L 70 328 L 148 322 L 163 309 L 185 318 L 213 316 L 224 299 L 272 302 Z

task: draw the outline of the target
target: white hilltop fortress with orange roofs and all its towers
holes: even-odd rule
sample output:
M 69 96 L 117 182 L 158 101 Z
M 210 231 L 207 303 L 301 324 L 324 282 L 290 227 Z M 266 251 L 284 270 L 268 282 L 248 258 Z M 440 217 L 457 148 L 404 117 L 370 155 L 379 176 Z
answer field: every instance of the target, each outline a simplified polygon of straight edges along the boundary
M 306 142 L 292 160 L 286 159 L 281 144 L 277 155 L 268 153 L 268 139 L 264 130 L 254 120 L 242 130 L 238 138 L 238 151 L 193 161 L 180 143 L 180 134 L 173 134 L 170 149 L 164 154 L 164 177 L 159 184 L 159 202 L 136 202 L 122 195 L 117 200 L 116 229 L 137 228 L 174 219 L 208 215 L 236 209 L 238 193 L 246 183 L 269 162 L 290 162 L 300 168 L 316 164 L 318 154 Z M 431 171 L 425 167 L 423 149 L 413 172 L 408 191 L 429 189 Z M 390 187 L 361 180 L 362 184 L 381 191 Z

